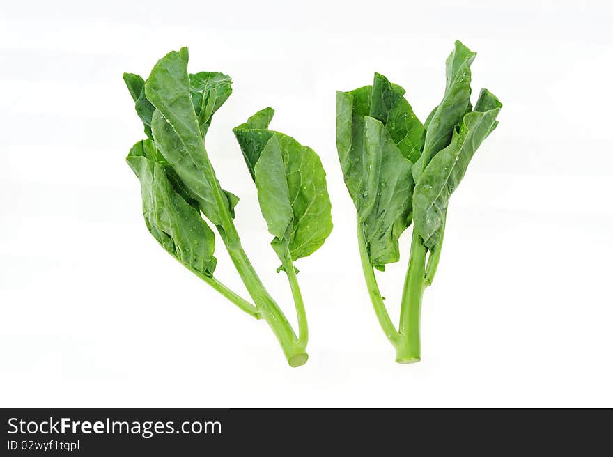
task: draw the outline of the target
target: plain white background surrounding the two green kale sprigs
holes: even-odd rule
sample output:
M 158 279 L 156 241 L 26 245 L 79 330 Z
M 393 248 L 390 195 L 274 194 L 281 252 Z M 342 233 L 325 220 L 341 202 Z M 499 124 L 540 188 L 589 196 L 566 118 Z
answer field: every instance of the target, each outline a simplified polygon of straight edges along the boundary
M 426 6 L 427 5 L 427 6 Z M 613 406 L 610 6 L 561 1 L 21 1 L 0 7 L 0 405 Z M 359 267 L 334 91 L 374 71 L 424 120 L 459 38 L 504 108 L 453 195 L 422 361 L 394 363 Z M 121 74 L 190 47 L 233 77 L 207 146 L 245 249 L 290 293 L 231 127 L 272 127 L 327 170 L 334 231 L 297 262 L 309 362 L 146 231 Z M 391 315 L 408 260 L 380 275 Z M 243 291 L 221 242 L 217 274 Z

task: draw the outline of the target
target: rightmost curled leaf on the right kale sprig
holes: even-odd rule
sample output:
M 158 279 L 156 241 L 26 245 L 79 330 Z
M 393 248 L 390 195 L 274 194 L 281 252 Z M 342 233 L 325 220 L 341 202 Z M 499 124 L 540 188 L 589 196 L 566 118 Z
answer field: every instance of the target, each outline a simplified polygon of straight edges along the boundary
M 421 173 L 413 192 L 413 217 L 428 249 L 440 244 L 449 197 L 466 173 L 476 149 L 497 125 L 501 107 L 492 93 L 481 91 L 475 111 L 464 116 L 459 129 L 453 130 L 449 146 L 437 153 Z

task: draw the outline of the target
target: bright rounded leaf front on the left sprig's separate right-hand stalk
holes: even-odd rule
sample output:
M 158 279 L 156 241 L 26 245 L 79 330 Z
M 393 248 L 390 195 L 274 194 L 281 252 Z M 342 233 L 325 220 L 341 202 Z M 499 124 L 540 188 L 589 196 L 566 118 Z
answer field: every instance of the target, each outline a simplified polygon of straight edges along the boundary
M 325 171 L 311 148 L 271 134 L 254 168 L 258 200 L 275 237 L 272 247 L 281 261 L 287 251 L 295 261 L 316 251 L 332 231 Z

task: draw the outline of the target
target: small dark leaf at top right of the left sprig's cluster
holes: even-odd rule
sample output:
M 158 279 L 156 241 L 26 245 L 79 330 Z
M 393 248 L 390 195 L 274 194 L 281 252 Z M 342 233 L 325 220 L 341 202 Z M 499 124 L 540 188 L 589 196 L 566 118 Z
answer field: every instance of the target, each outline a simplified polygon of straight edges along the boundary
M 189 94 L 198 118 L 202 136 L 205 137 L 215 111 L 232 93 L 232 79 L 218 72 L 199 72 L 189 75 Z

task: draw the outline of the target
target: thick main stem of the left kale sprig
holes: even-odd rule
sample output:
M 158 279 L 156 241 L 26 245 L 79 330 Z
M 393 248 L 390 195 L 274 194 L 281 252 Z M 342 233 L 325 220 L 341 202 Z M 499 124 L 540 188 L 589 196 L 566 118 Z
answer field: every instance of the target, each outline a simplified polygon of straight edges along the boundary
M 303 365 L 307 362 L 309 356 L 304 350 L 304 347 L 297 344 L 296 334 L 286 316 L 277 303 L 274 302 L 268 291 L 266 291 L 258 274 L 256 274 L 256 271 L 251 265 L 251 262 L 249 262 L 247 254 L 245 254 L 245 251 L 242 249 L 238 232 L 236 231 L 236 227 L 230 215 L 228 200 L 222 188 L 219 187 L 215 171 L 213 171 L 206 153 L 205 161 L 208 162 L 208 166 L 204 167 L 203 173 L 212 187 L 215 203 L 217 208 L 219 208 L 221 223 L 217 226 L 217 229 L 222 240 L 224 240 L 226 249 L 228 249 L 228 254 L 230 254 L 230 258 L 238 274 L 240 274 L 249 295 L 251 295 L 251 299 L 254 300 L 256 307 L 258 307 L 260 315 L 265 318 L 272 332 L 277 336 L 279 343 L 281 343 L 281 348 L 288 360 L 288 364 L 290 364 L 290 366 Z

